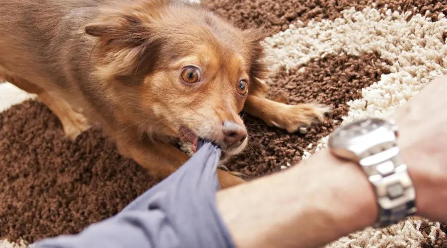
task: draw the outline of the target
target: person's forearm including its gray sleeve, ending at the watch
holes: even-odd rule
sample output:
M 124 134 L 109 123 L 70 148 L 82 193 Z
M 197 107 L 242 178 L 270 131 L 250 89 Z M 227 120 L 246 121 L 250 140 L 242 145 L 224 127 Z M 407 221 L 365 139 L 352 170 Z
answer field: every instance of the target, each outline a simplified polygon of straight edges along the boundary
M 200 158 L 117 216 L 36 248 L 317 247 L 375 219 L 362 171 L 326 150 L 286 171 L 220 190 L 217 203 L 217 178 Z

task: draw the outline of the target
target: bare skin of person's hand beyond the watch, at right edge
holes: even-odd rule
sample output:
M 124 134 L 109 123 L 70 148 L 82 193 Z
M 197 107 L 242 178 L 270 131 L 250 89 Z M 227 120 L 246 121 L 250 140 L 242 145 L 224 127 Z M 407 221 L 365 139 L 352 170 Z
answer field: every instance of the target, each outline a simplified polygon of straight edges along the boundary
M 393 118 L 398 144 L 416 189 L 417 215 L 447 221 L 447 76 L 438 77 Z

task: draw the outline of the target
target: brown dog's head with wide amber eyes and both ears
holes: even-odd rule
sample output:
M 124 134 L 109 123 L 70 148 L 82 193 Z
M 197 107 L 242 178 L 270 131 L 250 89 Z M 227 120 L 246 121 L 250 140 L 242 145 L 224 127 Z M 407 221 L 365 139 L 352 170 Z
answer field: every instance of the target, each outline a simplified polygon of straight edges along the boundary
M 130 123 L 193 151 L 198 136 L 228 155 L 245 147 L 239 113 L 248 92 L 265 91 L 268 72 L 259 29 L 238 29 L 181 1 L 145 0 L 106 10 L 85 33 L 97 37 L 96 74 Z

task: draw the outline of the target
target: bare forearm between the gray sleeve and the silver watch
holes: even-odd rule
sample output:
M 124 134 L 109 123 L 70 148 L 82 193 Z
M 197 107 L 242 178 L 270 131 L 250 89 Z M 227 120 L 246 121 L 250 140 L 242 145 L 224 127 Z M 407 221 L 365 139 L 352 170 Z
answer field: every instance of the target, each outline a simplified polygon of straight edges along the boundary
M 377 215 L 363 171 L 326 149 L 286 171 L 221 190 L 217 201 L 239 248 L 320 247 L 372 225 Z

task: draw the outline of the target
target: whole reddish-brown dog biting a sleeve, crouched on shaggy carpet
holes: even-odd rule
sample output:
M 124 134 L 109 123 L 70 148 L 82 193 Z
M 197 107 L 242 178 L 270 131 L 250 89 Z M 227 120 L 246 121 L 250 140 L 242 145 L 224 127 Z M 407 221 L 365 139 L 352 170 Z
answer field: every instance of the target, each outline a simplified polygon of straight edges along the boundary
M 8 0 L 0 13 L 0 80 L 37 94 L 71 138 L 101 124 L 121 154 L 162 178 L 189 158 L 198 136 L 219 144 L 223 157 L 240 152 L 244 107 L 290 132 L 329 111 L 266 99 L 262 33 L 196 4 Z M 243 182 L 218 176 L 223 188 Z

